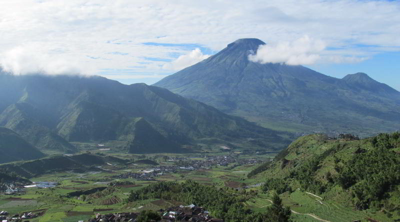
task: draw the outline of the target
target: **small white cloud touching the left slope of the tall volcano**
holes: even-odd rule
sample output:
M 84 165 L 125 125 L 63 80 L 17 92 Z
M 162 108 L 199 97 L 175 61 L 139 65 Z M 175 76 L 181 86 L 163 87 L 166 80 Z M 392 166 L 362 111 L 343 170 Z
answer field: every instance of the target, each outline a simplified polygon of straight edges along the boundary
M 203 54 L 199 48 L 195 48 L 187 54 L 180 55 L 175 60 L 165 63 L 162 67 L 167 70 L 180 70 L 193 65 L 201 60 L 208 58 L 210 55 Z

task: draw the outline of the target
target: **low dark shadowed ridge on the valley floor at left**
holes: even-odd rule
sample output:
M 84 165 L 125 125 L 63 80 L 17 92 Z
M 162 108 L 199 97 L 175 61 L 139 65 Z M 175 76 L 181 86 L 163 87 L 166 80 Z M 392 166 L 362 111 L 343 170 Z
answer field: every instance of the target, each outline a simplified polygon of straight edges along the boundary
M 0 164 L 0 171 L 8 170 L 16 175 L 30 178 L 33 176 L 38 176 L 54 171 L 84 171 L 95 165 L 106 165 L 107 162 L 124 164 L 127 161 L 112 156 L 103 156 L 88 153 L 71 156 L 53 155 L 30 161 Z

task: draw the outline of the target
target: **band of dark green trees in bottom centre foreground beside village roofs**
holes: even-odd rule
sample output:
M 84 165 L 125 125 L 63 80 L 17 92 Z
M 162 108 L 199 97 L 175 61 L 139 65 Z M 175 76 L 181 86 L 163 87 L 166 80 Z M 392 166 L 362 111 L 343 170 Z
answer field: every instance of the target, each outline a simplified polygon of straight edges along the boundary
M 214 217 L 226 221 L 288 221 L 290 208 L 281 204 L 276 195 L 274 203 L 265 212 L 254 213 L 245 207 L 246 198 L 233 195 L 228 190 L 202 185 L 186 180 L 184 182 L 157 182 L 141 189 L 131 191 L 127 201 L 160 198 L 203 206 Z

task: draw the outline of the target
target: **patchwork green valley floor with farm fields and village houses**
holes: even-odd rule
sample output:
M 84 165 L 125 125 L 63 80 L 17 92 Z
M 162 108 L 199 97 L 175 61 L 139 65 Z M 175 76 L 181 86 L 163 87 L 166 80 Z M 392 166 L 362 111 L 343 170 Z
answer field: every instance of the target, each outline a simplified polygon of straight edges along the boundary
M 103 150 L 110 154 L 108 150 Z M 166 199 L 147 199 L 126 202 L 131 190 L 140 189 L 158 181 L 180 181 L 191 179 L 205 185 L 230 187 L 232 195 L 242 195 L 244 204 L 253 211 L 263 211 L 271 204 L 270 195 L 260 189 L 262 178 L 247 178 L 247 173 L 257 163 L 269 161 L 271 154 L 245 155 L 234 151 L 206 154 L 114 154 L 116 157 L 135 158 L 128 164 L 107 164 L 98 170 L 86 172 L 61 171 L 31 178 L 31 181 L 54 181 L 52 188 L 25 188 L 22 193 L 0 194 L 0 211 L 9 215 L 33 212 L 38 216 L 29 221 L 87 221 L 96 213 L 140 212 L 145 209 L 159 210 L 174 205 L 189 205 L 190 202 L 176 202 Z M 145 164 L 139 158 L 150 159 L 159 165 Z M 235 161 L 224 161 L 234 158 Z M 192 162 L 209 162 L 217 159 L 207 168 L 187 167 Z M 218 165 L 218 161 L 223 165 Z M 147 162 L 148 163 L 148 162 Z M 156 170 L 156 169 L 163 170 Z M 155 170 L 155 171 L 152 171 Z M 169 172 L 168 172 L 169 170 Z M 161 172 L 162 171 L 162 172 Z M 156 173 L 154 173 L 156 172 Z M 148 174 L 151 176 L 137 177 Z M 110 182 L 113 183 L 110 184 Z M 245 187 L 243 189 L 241 187 Z M 93 189 L 98 188 L 98 189 Z M 254 191 L 251 191 L 254 190 Z M 250 194 L 251 193 L 251 194 Z M 315 194 L 295 190 L 281 195 L 284 205 L 290 206 L 293 221 L 389 221 L 383 213 L 358 211 L 349 206 L 323 199 Z M 210 212 L 212 215 L 212 212 Z

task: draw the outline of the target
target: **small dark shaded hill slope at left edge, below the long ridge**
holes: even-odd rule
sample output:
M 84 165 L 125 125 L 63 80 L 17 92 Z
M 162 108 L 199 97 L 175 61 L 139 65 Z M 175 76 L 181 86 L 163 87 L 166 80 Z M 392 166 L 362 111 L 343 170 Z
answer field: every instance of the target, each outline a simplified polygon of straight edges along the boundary
M 0 127 L 0 156 L 0 163 L 5 163 L 40 158 L 44 155 L 14 131 Z

